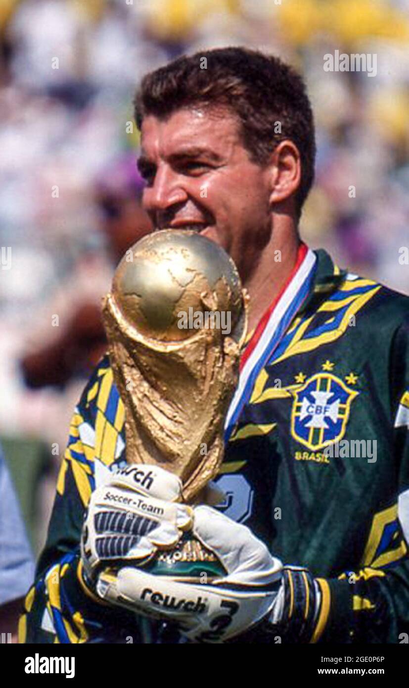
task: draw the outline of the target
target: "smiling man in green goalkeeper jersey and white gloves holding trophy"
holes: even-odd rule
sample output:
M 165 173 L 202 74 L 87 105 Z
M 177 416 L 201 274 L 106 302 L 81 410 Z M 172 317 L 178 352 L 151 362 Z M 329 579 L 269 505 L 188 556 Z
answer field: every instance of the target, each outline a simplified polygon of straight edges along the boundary
M 180 488 L 170 474 L 151 487 L 152 475 L 134 473 L 131 485 L 104 358 L 74 413 L 21 640 L 146 642 L 133 609 L 175 622 L 149 625 L 149 642 L 399 643 L 409 630 L 409 301 L 300 240 L 315 155 L 302 80 L 272 56 L 212 50 L 148 74 L 135 104 L 153 226 L 216 241 L 250 294 L 218 480 L 227 497 L 182 513 L 169 506 Z M 114 471 L 124 494 L 162 500 L 161 523 L 109 528 L 95 495 Z M 186 527 L 223 561 L 222 581 L 202 592 L 138 568 L 110 574 L 119 542 L 137 561 Z

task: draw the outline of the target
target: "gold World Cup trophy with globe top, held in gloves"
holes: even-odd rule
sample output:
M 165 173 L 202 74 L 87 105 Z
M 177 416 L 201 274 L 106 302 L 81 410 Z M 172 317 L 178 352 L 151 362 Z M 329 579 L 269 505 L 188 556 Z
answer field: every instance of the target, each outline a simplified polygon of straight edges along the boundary
M 208 501 L 239 377 L 247 294 L 232 259 L 190 230 L 154 232 L 115 270 L 102 316 L 125 407 L 126 461 L 178 475 L 184 501 Z M 150 572 L 196 580 L 223 566 L 192 535 L 158 552 Z

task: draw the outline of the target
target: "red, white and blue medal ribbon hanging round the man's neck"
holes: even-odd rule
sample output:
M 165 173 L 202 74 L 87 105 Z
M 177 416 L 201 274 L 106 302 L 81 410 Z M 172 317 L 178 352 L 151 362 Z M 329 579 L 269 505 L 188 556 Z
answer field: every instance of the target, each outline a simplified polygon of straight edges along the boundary
M 225 442 L 228 442 L 241 411 L 250 399 L 258 374 L 272 358 L 294 315 L 307 298 L 316 260 L 315 253 L 301 244 L 291 275 L 254 330 L 241 357 L 239 385 L 225 419 Z

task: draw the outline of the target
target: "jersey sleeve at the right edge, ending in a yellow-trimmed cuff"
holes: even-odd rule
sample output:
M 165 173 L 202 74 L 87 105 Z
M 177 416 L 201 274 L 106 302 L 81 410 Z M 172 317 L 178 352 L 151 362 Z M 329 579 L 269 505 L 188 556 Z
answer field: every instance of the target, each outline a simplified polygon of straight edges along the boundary
M 374 519 L 369 566 L 338 579 L 317 579 L 321 590 L 316 641 L 408 643 L 409 638 L 409 321 L 397 330 L 390 357 L 390 407 L 397 491 Z M 386 546 L 387 545 L 387 546 Z

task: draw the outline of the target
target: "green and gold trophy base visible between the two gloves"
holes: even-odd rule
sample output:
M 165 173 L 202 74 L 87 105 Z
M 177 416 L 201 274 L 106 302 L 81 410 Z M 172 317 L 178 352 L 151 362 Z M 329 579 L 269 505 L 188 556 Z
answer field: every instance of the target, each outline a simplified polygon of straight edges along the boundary
M 173 550 L 157 552 L 145 570 L 158 576 L 170 576 L 184 583 L 211 583 L 226 571 L 213 552 L 192 535 L 185 534 Z

